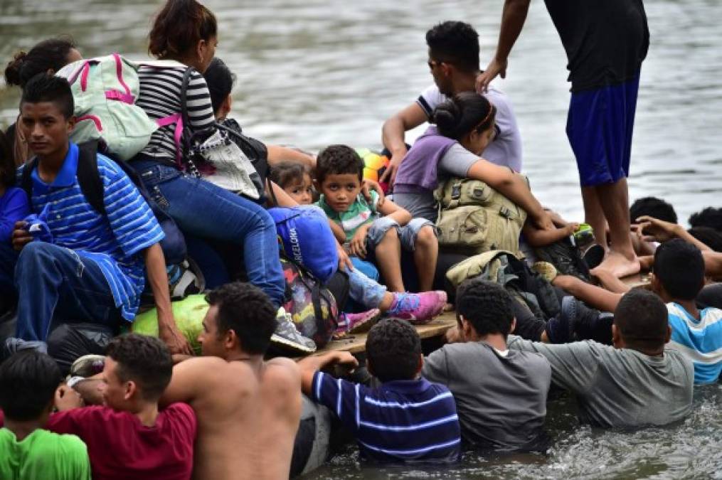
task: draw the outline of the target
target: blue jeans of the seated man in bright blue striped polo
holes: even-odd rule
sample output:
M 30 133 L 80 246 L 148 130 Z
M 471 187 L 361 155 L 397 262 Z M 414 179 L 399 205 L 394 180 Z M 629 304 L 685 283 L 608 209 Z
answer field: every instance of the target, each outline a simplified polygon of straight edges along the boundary
M 0 245 L 0 279 L 8 270 L 12 248 Z M 48 339 L 51 327 L 60 323 L 92 322 L 117 328 L 121 312 L 97 263 L 73 250 L 32 241 L 17 256 L 14 266 L 17 288 L 17 330 L 23 340 Z

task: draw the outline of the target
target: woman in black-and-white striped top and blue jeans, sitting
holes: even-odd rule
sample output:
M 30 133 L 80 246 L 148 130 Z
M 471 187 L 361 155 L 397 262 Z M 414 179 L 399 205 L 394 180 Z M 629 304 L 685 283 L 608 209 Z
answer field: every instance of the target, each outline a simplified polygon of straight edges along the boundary
M 150 32 L 149 52 L 184 66 L 139 70 L 137 105 L 158 120 L 181 112 L 181 84 L 186 66 L 192 67 L 186 96 L 191 132 L 214 125 L 206 81 L 201 75 L 213 59 L 217 41 L 214 14 L 196 0 L 168 0 Z M 196 237 L 240 245 L 248 280 L 269 295 L 276 307 L 284 297 L 276 227 L 262 206 L 212 183 L 186 174 L 177 156 L 175 125 L 157 129 L 133 165 L 157 203 L 181 230 Z

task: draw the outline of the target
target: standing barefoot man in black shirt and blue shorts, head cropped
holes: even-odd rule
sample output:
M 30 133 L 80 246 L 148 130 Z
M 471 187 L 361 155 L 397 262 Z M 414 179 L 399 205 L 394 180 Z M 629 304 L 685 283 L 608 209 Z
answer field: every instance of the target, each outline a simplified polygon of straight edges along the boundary
M 597 243 L 611 246 L 598 267 L 621 277 L 640 264 L 630 239 L 629 175 L 642 61 L 649 30 L 642 0 L 544 0 L 567 52 L 572 97 L 567 136 L 577 159 L 586 222 Z M 482 91 L 497 75 L 521 33 L 531 0 L 505 0 L 499 44 L 477 77 Z

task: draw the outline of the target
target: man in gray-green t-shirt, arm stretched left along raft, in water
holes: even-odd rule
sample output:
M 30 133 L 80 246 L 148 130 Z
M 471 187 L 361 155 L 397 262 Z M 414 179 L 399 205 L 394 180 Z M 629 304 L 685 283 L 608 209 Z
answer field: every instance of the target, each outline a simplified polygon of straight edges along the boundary
M 675 422 L 692 409 L 694 368 L 690 359 L 664 348 L 669 338 L 664 302 L 634 289 L 614 312 L 613 347 L 593 341 L 548 345 L 518 336 L 508 344 L 547 357 L 552 383 L 576 394 L 581 422 L 640 427 Z

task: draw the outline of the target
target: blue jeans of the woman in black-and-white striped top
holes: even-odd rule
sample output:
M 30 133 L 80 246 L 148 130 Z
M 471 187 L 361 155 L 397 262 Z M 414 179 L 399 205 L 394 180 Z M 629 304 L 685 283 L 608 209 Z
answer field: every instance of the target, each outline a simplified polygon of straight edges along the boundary
M 262 206 L 147 157 L 131 165 L 183 232 L 242 245 L 248 281 L 266 292 L 276 307 L 282 304 L 286 282 L 276 224 Z

